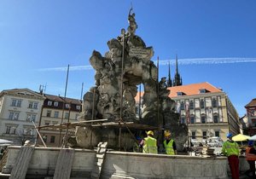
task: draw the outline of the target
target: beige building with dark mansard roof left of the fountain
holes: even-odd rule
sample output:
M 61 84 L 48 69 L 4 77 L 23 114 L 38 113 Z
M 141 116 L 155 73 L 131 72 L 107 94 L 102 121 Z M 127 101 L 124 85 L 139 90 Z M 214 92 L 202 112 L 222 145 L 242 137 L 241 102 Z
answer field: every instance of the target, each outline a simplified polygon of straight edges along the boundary
M 48 126 L 61 123 L 78 122 L 82 109 L 82 101 L 72 98 L 64 98 L 59 95 L 44 94 L 44 106 L 39 126 Z M 73 134 L 74 129 L 68 130 L 68 135 Z M 47 147 L 61 147 L 66 129 L 57 130 L 42 128 L 40 134 Z M 38 141 L 38 144 L 43 144 Z

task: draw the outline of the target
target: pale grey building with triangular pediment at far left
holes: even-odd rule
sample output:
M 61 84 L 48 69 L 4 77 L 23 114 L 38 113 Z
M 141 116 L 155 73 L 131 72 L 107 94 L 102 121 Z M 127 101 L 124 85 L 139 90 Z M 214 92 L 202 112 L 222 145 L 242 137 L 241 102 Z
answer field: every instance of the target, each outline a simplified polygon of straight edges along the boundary
M 28 89 L 3 90 L 0 93 L 0 138 L 23 145 L 35 141 L 44 96 Z M 34 124 L 32 123 L 34 122 Z

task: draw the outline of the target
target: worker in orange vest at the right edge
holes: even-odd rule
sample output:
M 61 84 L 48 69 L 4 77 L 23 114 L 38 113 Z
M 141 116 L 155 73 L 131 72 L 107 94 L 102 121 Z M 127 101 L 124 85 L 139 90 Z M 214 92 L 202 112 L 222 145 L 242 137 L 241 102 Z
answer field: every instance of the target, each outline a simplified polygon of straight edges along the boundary
M 253 141 L 248 141 L 246 155 L 247 155 L 247 162 L 250 165 L 250 169 L 246 171 L 246 174 L 247 174 L 247 176 L 249 176 L 249 173 L 253 173 L 252 178 L 256 178 L 256 176 L 255 176 L 256 150 L 253 147 Z

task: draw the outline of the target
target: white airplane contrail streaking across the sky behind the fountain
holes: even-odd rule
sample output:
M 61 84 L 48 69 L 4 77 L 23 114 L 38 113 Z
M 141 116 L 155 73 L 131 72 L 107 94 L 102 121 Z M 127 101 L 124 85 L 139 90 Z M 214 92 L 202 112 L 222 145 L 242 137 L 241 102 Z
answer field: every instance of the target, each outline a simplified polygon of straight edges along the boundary
M 249 63 L 256 62 L 256 58 L 240 58 L 240 57 L 229 57 L 229 58 L 191 58 L 191 59 L 178 59 L 177 64 L 180 66 L 188 65 L 215 65 L 215 64 L 227 64 L 227 63 Z M 154 61 L 156 64 L 157 61 Z M 160 66 L 166 65 L 174 66 L 176 64 L 175 59 L 170 60 L 160 60 Z M 79 70 L 93 70 L 92 66 L 70 66 L 70 71 L 79 71 Z M 41 68 L 38 71 L 67 71 L 67 67 L 53 67 L 53 68 Z

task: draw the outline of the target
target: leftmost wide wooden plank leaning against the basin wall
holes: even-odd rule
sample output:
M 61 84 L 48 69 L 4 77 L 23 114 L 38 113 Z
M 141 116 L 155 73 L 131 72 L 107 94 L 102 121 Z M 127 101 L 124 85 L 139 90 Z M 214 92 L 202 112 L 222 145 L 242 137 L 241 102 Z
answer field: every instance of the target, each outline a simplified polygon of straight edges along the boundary
M 9 179 L 25 179 L 26 171 L 30 160 L 32 158 L 32 153 L 34 147 L 21 147 L 18 157 L 15 161 L 14 168 L 11 171 Z

